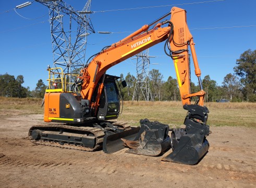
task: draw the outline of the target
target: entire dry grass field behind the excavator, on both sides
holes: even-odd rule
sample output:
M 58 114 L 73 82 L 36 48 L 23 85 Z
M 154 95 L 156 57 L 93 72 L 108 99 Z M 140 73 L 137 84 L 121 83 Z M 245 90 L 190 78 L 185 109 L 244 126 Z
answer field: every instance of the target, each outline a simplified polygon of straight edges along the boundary
M 26 114 L 43 114 L 42 99 L 18 99 L 0 97 L 0 115 L 17 116 Z M 256 103 L 205 103 L 210 114 L 210 126 L 245 126 L 256 128 Z M 182 108 L 181 102 L 145 102 L 125 101 L 123 113 L 118 120 L 131 125 L 139 125 L 139 120 L 148 118 L 158 120 L 170 127 L 183 125 L 187 111 Z M 42 119 L 43 120 L 43 119 Z

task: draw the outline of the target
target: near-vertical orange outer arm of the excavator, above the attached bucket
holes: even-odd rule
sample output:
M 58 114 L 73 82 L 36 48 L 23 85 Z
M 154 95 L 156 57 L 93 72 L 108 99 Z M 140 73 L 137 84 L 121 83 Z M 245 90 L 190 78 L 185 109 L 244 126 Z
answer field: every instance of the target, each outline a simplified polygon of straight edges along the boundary
M 173 7 L 172 18 L 170 19 L 170 22 L 173 27 L 173 34 L 168 38 L 168 48 L 170 51 L 169 56 L 172 57 L 174 61 L 182 104 L 190 104 L 191 97 L 197 96 L 197 103 L 203 106 L 203 98 L 205 92 L 203 91 L 201 83 L 201 71 L 199 69 L 196 50 L 194 48 L 195 44 L 187 25 L 186 10 Z M 196 93 L 190 92 L 190 62 L 188 46 L 190 46 L 194 71 L 198 77 L 199 85 L 201 88 L 201 90 Z

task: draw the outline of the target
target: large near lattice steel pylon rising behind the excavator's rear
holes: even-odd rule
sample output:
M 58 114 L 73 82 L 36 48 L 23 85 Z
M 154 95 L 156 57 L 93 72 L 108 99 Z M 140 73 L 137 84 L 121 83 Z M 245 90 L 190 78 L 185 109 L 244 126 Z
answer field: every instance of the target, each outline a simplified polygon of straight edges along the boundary
M 91 0 L 87 1 L 81 11 L 76 11 L 62 0 L 36 2 L 49 9 L 53 67 L 62 68 L 64 74 L 74 73 L 75 69 L 80 70 L 86 57 L 87 36 L 95 33 L 89 17 L 92 13 Z

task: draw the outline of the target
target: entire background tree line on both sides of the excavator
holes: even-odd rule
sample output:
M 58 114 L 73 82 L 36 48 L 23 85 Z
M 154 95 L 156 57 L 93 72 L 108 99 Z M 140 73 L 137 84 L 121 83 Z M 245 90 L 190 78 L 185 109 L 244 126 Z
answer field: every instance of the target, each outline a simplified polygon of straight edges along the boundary
M 256 102 L 256 50 L 247 50 L 243 52 L 239 59 L 236 60 L 234 74 L 228 73 L 224 78 L 221 86 L 211 79 L 210 75 L 202 79 L 203 89 L 206 92 L 205 102 L 214 102 L 218 99 L 228 99 L 232 102 Z M 177 79 L 169 76 L 165 81 L 159 70 L 149 72 L 148 83 L 150 86 L 152 100 L 154 101 L 178 101 L 180 99 Z M 136 86 L 136 77 L 128 73 L 125 77 L 120 75 L 119 82 L 126 80 L 127 87 L 120 87 L 120 92 L 124 100 L 132 100 L 133 91 Z M 23 87 L 23 76 L 4 74 L 0 75 L 0 96 L 3 97 L 34 97 L 43 98 L 46 85 L 42 79 L 38 80 L 34 90 Z M 191 82 L 191 92 L 200 90 L 198 84 Z M 144 100 L 143 93 L 139 92 L 136 100 Z M 196 99 L 195 99 L 196 100 Z

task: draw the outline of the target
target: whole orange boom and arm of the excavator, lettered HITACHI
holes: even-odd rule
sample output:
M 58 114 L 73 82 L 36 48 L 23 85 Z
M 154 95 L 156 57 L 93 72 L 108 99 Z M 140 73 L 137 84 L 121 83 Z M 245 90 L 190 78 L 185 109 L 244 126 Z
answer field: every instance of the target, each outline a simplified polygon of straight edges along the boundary
M 168 15 L 172 15 L 170 21 L 156 23 Z M 202 89 L 200 79 L 201 71 L 199 69 L 196 51 L 194 50 L 193 38 L 187 26 L 186 11 L 173 7 L 171 12 L 160 19 L 142 26 L 141 29 L 95 55 L 90 63 L 81 71 L 81 95 L 83 99 L 91 101 L 99 80 L 109 68 L 151 46 L 166 41 L 165 52 L 174 61 L 182 104 L 190 104 L 191 97 L 197 96 L 199 97 L 199 105 L 203 106 L 205 92 Z M 153 29 L 149 30 L 150 26 L 153 24 L 155 24 L 155 26 Z M 193 57 L 195 73 L 201 87 L 201 90 L 196 93 L 190 92 L 189 46 Z M 90 103 L 91 108 L 94 109 L 95 112 L 99 106 L 104 80 L 101 82 L 101 87 L 99 87 L 99 91 L 97 91 L 96 100 Z

